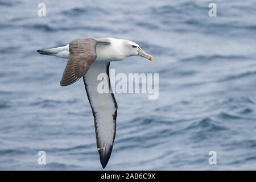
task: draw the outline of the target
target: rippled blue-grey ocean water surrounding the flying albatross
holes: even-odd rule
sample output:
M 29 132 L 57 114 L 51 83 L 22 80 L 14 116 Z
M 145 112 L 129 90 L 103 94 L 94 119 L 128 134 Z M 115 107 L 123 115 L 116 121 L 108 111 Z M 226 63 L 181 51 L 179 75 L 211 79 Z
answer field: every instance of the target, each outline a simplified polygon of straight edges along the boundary
M 43 1 L 39 17 L 40 2 L 0 1 L 1 170 L 102 169 L 82 79 L 61 87 L 67 60 L 36 52 L 101 37 L 154 56 L 112 63 L 116 73 L 159 73 L 158 100 L 115 94 L 105 169 L 256 169 L 255 1 Z

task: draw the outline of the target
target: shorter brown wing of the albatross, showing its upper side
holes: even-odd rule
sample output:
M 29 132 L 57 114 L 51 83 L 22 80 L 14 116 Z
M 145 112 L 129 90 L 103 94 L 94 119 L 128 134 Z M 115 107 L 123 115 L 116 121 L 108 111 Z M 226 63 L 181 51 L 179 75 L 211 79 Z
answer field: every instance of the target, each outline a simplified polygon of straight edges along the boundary
M 60 81 L 61 86 L 71 85 L 85 75 L 96 59 L 94 39 L 81 39 L 69 44 L 69 60 Z

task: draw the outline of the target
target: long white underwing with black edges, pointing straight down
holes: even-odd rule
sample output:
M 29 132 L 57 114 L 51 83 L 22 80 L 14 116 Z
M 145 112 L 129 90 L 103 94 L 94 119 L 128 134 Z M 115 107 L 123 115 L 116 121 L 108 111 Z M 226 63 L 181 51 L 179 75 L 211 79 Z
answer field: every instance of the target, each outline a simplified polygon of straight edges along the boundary
M 100 73 L 106 73 L 109 78 L 109 64 L 94 62 L 84 76 L 85 90 L 93 111 L 98 153 L 103 168 L 109 161 L 115 139 L 117 102 L 114 94 L 110 92 L 112 89 L 109 79 L 108 85 L 104 85 L 108 87 L 109 93 L 98 92 L 97 87 L 101 80 L 97 80 L 97 77 Z

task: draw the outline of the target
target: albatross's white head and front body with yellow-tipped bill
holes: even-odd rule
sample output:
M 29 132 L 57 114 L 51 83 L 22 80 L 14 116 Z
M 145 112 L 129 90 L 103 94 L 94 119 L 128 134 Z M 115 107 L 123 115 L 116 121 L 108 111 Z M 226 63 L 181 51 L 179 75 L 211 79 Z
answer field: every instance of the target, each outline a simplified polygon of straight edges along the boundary
M 143 51 L 138 44 L 130 40 L 114 39 L 114 38 L 101 38 L 98 41 L 96 51 L 98 60 L 121 61 L 130 56 L 142 56 L 148 60 L 153 60 L 153 56 Z

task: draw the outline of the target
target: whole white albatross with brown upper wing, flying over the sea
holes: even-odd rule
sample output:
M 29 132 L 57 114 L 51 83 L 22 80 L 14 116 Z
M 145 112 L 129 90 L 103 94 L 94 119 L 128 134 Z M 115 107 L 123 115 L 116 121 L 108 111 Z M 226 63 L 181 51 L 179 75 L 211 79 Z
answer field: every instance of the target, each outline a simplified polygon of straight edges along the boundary
M 40 49 L 37 52 L 41 55 L 68 59 L 60 80 L 61 86 L 71 85 L 81 77 L 84 78 L 85 90 L 94 117 L 98 154 L 101 165 L 105 168 L 115 139 L 117 102 L 112 92 L 103 94 L 97 92 L 97 85 L 100 82 L 97 76 L 100 73 L 109 76 L 110 61 L 121 61 L 135 55 L 152 61 L 153 57 L 134 42 L 114 38 L 80 39 L 67 46 Z M 110 91 L 112 89 L 110 81 L 108 87 Z

